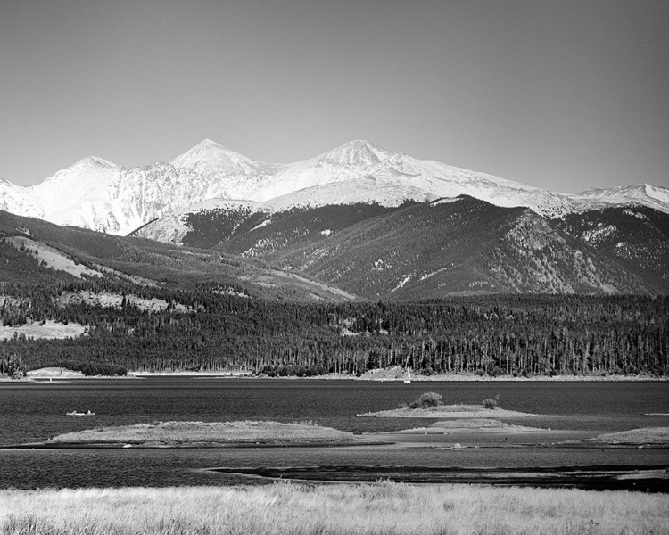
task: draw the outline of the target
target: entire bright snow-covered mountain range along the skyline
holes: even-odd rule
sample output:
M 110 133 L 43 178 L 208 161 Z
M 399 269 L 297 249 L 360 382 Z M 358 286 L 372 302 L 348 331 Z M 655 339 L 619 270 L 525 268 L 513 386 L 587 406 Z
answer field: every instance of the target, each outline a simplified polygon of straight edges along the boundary
M 273 164 L 254 161 L 209 139 L 170 163 L 124 168 L 94 156 L 62 169 L 39 185 L 0 181 L 0 209 L 125 235 L 157 218 L 183 226 L 184 216 L 217 199 L 258 203 L 258 210 L 294 206 L 405 200 L 431 201 L 467 194 L 497 206 L 531 208 L 540 215 L 564 216 L 636 202 L 669 213 L 667 188 L 640 185 L 556 193 L 486 173 L 418 160 L 364 140 L 345 143 L 305 161 Z M 161 235 L 183 235 L 183 228 L 161 224 Z M 171 241 L 170 240 L 170 241 Z

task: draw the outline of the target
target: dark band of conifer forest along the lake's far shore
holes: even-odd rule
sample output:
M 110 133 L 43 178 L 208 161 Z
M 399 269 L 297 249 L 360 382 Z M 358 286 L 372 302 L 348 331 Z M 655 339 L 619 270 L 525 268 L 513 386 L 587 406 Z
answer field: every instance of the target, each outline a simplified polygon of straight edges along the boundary
M 61 292 L 132 293 L 180 303 L 149 313 L 57 304 Z M 270 375 L 669 374 L 669 298 L 486 295 L 420 303 L 305 304 L 105 281 L 0 285 L 4 325 L 54 319 L 89 325 L 66 340 L 17 336 L 0 354 L 27 369 L 104 373 L 245 370 Z

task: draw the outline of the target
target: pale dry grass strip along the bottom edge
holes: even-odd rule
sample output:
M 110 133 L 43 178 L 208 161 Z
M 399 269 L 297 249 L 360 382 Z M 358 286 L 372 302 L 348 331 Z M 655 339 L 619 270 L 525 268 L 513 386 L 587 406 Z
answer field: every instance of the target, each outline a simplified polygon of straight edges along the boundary
M 669 532 L 666 495 L 476 486 L 0 490 L 3 535 Z

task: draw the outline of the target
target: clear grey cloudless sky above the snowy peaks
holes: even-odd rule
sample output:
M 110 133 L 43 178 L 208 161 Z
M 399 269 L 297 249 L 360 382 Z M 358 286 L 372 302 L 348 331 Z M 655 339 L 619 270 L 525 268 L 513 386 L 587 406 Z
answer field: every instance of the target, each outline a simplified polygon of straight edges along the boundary
M 666 0 L 5 0 L 0 177 L 367 139 L 565 193 L 669 186 L 668 29 Z

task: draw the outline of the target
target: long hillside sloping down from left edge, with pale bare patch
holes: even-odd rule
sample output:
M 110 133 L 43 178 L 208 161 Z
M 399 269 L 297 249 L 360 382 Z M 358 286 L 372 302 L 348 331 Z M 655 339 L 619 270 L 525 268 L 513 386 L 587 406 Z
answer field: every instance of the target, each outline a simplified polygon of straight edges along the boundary
M 29 241 L 12 251 L 9 243 Z M 309 276 L 293 276 L 263 260 L 208 249 L 178 247 L 144 238 L 121 237 L 72 226 L 56 226 L 0 210 L 0 282 L 35 284 L 71 280 L 55 264 L 39 259 L 38 248 L 57 251 L 68 261 L 123 284 L 193 289 L 210 284 L 219 291 L 262 299 L 348 300 L 354 296 Z M 89 277 L 90 278 L 90 277 Z

